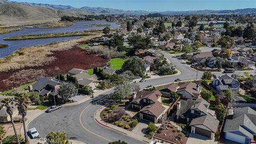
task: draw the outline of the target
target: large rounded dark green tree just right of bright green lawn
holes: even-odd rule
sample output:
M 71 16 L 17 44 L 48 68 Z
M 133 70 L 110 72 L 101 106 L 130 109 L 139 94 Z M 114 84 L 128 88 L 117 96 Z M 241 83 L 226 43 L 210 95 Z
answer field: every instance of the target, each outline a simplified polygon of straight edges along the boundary
M 132 57 L 124 62 L 122 70 L 130 70 L 135 76 L 143 76 L 144 62 L 139 57 Z

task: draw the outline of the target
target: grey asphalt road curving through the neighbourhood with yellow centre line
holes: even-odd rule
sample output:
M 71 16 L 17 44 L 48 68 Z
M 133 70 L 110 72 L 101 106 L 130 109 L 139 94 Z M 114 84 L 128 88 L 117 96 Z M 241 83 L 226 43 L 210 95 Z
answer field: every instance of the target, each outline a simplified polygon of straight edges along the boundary
M 141 89 L 145 88 L 147 85 L 171 83 L 177 78 L 190 80 L 196 79 L 196 75 L 198 75 L 197 78 L 202 77 L 202 72 L 197 72 L 187 67 L 185 64 L 182 64 L 181 60 L 174 58 L 174 55 L 167 53 L 164 53 L 164 55 L 175 65 L 177 69 L 181 71 L 181 74 L 176 76 L 147 79 L 146 82 L 138 83 Z M 243 75 L 243 73 L 243 71 L 237 71 L 235 74 Z M 251 71 L 250 73 L 254 74 L 254 71 Z M 222 73 L 214 74 L 217 76 L 223 75 Z M 93 117 L 94 112 L 104 105 L 104 95 L 94 99 L 97 100 L 89 100 L 81 103 L 80 105 L 65 107 L 49 114 L 44 113 L 35 118 L 34 121 L 29 124 L 29 128 L 36 127 L 42 138 L 45 138 L 47 133 L 51 131 L 64 131 L 67 132 L 68 139 L 75 139 L 85 143 L 101 144 L 119 139 L 126 141 L 127 143 L 145 143 L 96 123 Z

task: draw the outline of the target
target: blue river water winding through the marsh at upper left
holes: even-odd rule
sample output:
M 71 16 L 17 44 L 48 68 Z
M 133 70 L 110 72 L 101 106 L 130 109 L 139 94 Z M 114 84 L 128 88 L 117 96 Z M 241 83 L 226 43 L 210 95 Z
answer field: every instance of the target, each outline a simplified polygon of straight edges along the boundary
M 116 22 L 108 22 L 108 21 L 99 20 L 99 21 L 78 21 L 78 22 L 75 22 L 72 26 L 69 26 L 69 27 L 61 27 L 61 28 L 25 28 L 23 30 L 13 31 L 11 33 L 0 35 L 0 43 L 4 43 L 4 44 L 9 45 L 8 47 L 0 49 L 0 58 L 6 57 L 6 56 L 12 54 L 14 51 L 20 49 L 21 47 L 67 41 L 69 39 L 76 39 L 76 38 L 79 38 L 81 36 L 4 41 L 3 39 L 6 38 L 6 37 L 29 35 L 29 34 L 66 33 L 66 32 L 73 32 L 73 31 L 84 31 L 84 30 L 90 30 L 90 29 L 104 28 L 104 27 L 92 26 L 93 24 L 109 24 L 110 28 L 115 28 L 115 27 L 120 26 Z

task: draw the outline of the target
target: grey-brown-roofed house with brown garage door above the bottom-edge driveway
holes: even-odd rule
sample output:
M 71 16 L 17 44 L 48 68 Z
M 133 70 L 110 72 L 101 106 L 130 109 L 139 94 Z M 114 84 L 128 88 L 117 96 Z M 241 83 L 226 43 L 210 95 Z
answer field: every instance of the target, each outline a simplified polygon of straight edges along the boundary
M 191 133 L 214 139 L 219 121 L 215 117 L 215 111 L 210 110 L 209 106 L 210 103 L 204 99 L 180 100 L 177 103 L 177 120 L 189 123 Z

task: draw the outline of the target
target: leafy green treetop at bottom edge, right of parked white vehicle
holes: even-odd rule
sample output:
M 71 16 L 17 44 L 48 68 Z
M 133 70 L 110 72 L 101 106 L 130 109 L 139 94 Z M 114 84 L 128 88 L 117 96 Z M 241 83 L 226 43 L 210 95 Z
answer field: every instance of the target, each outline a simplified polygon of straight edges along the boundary
M 65 132 L 50 132 L 46 136 L 48 144 L 69 144 Z

